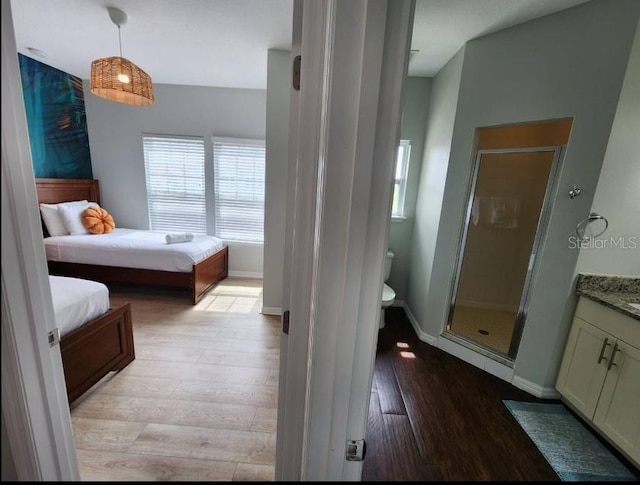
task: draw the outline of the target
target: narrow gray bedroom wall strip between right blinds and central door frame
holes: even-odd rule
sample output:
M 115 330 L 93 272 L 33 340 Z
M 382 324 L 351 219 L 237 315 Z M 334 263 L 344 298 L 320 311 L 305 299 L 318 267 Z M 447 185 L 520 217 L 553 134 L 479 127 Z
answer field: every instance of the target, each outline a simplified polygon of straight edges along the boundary
M 282 309 L 284 234 L 289 151 L 291 54 L 270 49 L 267 54 L 267 140 L 264 214 L 264 282 L 262 303 L 267 311 Z

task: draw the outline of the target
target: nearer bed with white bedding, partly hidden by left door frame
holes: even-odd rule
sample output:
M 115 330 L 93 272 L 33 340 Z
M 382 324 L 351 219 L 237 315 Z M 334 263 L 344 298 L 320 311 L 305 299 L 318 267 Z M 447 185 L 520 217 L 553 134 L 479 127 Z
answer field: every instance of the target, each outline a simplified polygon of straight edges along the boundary
M 71 404 L 135 359 L 131 305 L 111 308 L 108 288 L 96 281 L 50 275 L 49 282 Z

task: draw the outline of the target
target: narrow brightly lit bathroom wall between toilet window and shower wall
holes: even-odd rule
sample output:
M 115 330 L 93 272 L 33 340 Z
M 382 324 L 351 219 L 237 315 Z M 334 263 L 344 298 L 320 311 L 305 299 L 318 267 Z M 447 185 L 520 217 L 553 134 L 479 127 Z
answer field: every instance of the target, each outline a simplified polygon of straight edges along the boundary
M 406 298 L 409 311 L 423 325 L 427 321 L 426 297 L 431 282 L 463 61 L 464 47 L 438 72 L 431 90 Z

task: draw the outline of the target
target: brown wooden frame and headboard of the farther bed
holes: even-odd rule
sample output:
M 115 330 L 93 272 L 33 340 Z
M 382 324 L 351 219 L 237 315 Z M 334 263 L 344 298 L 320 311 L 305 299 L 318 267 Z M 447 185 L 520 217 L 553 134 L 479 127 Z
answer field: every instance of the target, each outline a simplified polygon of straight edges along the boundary
M 100 186 L 95 179 L 36 179 L 38 201 L 58 204 L 72 200 L 89 200 L 100 204 Z M 190 273 L 156 271 L 116 266 L 62 263 L 49 261 L 49 272 L 53 275 L 87 278 L 103 283 L 140 284 L 169 288 L 187 288 L 191 291 L 195 305 L 218 282 L 229 274 L 229 248 L 193 265 Z

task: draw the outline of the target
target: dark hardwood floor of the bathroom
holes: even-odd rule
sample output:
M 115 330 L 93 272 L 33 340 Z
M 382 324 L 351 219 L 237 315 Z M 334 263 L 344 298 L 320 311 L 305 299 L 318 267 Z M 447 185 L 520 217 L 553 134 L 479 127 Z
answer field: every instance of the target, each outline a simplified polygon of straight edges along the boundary
M 364 481 L 558 481 L 502 403 L 530 394 L 418 340 L 388 308 L 371 393 Z

